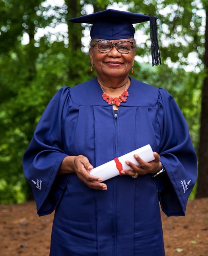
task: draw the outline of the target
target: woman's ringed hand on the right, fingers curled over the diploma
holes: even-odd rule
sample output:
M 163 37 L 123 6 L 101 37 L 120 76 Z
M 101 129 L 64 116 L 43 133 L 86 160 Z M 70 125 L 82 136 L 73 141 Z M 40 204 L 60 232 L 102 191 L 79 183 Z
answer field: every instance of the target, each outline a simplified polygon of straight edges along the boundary
M 136 176 L 136 175 L 144 175 L 148 173 L 155 174 L 159 170 L 162 169 L 162 164 L 160 162 L 160 156 L 157 152 L 153 152 L 155 160 L 151 162 L 145 162 L 140 158 L 137 154 L 134 154 L 134 158 L 138 162 L 138 165 L 133 164 L 130 161 L 126 161 L 125 163 L 131 168 L 130 170 L 122 170 L 121 175 L 129 175 L 129 176 Z

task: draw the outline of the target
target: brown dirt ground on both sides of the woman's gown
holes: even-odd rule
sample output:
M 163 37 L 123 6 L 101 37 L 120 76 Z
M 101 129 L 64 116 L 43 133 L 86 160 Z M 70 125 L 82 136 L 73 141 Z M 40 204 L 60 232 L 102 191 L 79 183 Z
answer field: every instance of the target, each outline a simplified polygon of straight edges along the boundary
M 208 256 L 208 198 L 189 201 L 185 217 L 161 215 L 166 256 Z M 0 256 L 49 255 L 52 219 L 34 201 L 0 205 Z

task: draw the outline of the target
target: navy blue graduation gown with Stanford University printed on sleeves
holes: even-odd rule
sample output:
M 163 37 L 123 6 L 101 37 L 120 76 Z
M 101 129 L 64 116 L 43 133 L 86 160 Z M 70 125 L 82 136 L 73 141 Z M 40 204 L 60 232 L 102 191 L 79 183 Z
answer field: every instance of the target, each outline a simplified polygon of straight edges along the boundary
M 196 182 L 196 154 L 172 96 L 131 78 L 117 119 L 94 78 L 60 89 L 45 109 L 23 157 L 37 213 L 54 209 L 51 256 L 163 256 L 159 201 L 167 216 L 185 215 Z M 96 167 L 150 144 L 167 174 L 116 176 L 107 191 L 75 173 L 56 176 L 67 155 Z

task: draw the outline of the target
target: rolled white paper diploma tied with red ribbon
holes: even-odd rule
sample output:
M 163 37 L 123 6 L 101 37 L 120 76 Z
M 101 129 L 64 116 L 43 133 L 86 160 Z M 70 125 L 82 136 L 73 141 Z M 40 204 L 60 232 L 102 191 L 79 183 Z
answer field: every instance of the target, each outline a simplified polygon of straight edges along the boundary
M 144 147 L 133 150 L 132 152 L 129 152 L 127 154 L 124 154 L 123 156 L 115 158 L 115 160 L 111 160 L 105 164 L 97 166 L 97 167 L 93 168 L 92 170 L 90 170 L 89 172 L 93 176 L 102 178 L 103 181 L 108 180 L 110 178 L 113 178 L 113 177 L 119 175 L 120 174 L 119 171 L 121 171 L 121 170 L 130 170 L 130 167 L 127 164 L 125 164 L 126 160 L 138 165 L 138 162 L 134 158 L 134 154 L 138 154 L 140 156 L 140 158 L 142 158 L 142 160 L 144 160 L 145 162 L 150 162 L 155 159 L 152 148 L 148 144 Z M 120 168 L 122 167 L 121 170 L 119 170 L 117 168 L 116 162 L 117 163 L 120 162 L 119 163 Z M 122 166 L 121 166 L 121 164 L 122 164 Z

